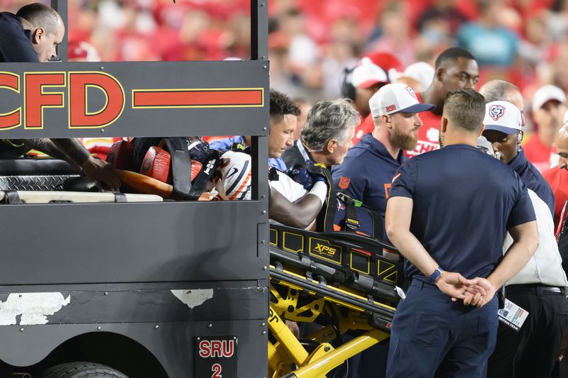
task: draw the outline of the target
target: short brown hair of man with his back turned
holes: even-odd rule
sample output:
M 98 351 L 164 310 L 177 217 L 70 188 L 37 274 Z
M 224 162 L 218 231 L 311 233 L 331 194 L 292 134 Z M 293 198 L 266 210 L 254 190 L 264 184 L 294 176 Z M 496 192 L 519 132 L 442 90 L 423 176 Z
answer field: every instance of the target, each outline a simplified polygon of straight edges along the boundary
M 444 102 L 444 117 L 452 126 L 479 133 L 484 123 L 485 98 L 475 89 L 449 91 Z

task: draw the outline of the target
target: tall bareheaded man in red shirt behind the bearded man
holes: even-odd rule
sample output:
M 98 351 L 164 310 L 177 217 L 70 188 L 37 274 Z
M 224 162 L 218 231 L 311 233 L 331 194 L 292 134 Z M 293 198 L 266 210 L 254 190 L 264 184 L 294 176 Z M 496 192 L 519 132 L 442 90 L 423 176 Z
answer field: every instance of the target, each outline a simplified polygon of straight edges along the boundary
M 408 157 L 439 148 L 439 123 L 442 121 L 448 92 L 454 89 L 474 89 L 478 80 L 477 61 L 464 48 L 449 48 L 437 57 L 434 80 L 419 97 L 420 102 L 434 104 L 436 108 L 420 113 L 423 126 L 418 130 L 416 148 L 405 152 Z

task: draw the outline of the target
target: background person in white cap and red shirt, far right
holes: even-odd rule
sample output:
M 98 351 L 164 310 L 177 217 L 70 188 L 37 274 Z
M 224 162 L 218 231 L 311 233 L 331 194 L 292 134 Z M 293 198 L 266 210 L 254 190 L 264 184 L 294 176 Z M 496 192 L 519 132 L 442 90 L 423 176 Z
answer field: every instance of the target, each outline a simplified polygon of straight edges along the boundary
M 537 124 L 537 133 L 523 144 L 527 159 L 540 172 L 544 172 L 555 160 L 555 135 L 562 124 L 566 111 L 566 95 L 554 85 L 545 85 L 532 97 L 532 117 Z

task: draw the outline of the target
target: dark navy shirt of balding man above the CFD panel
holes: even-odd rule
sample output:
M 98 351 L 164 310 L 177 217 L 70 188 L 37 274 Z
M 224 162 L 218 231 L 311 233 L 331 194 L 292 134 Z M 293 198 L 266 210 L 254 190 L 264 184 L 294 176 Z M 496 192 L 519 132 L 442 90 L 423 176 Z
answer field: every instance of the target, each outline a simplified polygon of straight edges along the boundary
M 9 12 L 0 13 L 0 62 L 39 62 L 30 30 L 23 30 L 20 18 Z

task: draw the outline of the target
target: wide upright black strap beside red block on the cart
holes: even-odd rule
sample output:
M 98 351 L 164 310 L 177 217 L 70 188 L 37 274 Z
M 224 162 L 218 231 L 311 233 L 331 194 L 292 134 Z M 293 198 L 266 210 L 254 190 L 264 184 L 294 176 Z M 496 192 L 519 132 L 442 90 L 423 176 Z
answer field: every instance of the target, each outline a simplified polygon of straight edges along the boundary
M 186 138 L 165 138 L 165 145 L 172 158 L 173 196 L 190 199 L 191 167 Z

